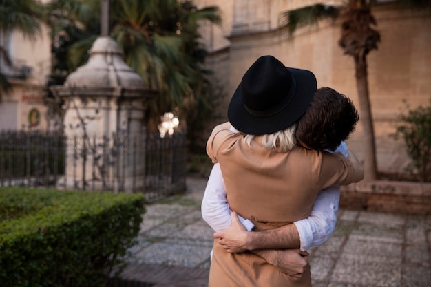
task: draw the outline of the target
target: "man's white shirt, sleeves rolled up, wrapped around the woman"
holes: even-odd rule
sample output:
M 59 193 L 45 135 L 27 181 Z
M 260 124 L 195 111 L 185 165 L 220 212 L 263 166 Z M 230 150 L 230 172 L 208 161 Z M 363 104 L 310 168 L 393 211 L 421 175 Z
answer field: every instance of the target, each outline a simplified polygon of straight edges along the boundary
M 341 142 L 337 151 L 341 151 L 344 156 L 347 156 L 346 143 Z M 339 187 L 328 187 L 317 194 L 311 214 L 304 220 L 293 222 L 299 233 L 302 251 L 328 241 L 337 223 L 338 204 Z M 231 225 L 231 209 L 227 203 L 222 171 L 218 163 L 214 164 L 209 175 L 201 210 L 202 218 L 214 231 L 222 231 Z M 239 215 L 238 217 L 248 231 L 253 229 L 253 222 Z

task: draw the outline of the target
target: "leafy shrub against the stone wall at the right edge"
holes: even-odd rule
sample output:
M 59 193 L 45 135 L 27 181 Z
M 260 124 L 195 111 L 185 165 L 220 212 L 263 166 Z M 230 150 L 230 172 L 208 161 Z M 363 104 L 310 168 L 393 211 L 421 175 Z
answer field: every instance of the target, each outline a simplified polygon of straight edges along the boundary
M 431 101 L 430 101 L 431 103 Z M 397 126 L 394 138 L 403 138 L 408 156 L 412 160 L 408 169 L 417 171 L 421 182 L 431 181 L 431 105 L 408 109 L 407 114 L 401 114 L 401 124 Z

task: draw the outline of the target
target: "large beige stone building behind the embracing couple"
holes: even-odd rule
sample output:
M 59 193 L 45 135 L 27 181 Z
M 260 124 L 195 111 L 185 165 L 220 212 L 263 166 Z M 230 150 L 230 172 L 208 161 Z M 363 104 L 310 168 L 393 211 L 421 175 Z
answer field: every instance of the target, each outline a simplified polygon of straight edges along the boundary
M 202 34 L 211 56 L 207 65 L 224 91 L 215 123 L 226 120 L 227 104 L 242 75 L 259 56 L 272 54 L 286 66 L 311 70 L 318 87 L 333 87 L 352 98 L 358 107 L 353 59 L 337 44 L 339 21 L 303 28 L 289 39 L 276 31 L 280 14 L 322 1 L 298 0 L 196 0 L 199 6 L 219 6 L 222 27 L 204 25 Z M 342 1 L 330 1 L 342 3 Z M 399 114 L 431 102 L 430 11 L 400 11 L 390 3 L 372 8 L 381 33 L 379 49 L 368 55 L 368 81 L 375 125 L 377 168 L 402 173 L 409 162 L 402 140 L 390 137 Z M 358 107 L 359 108 L 359 107 Z M 209 127 L 209 134 L 213 125 Z M 361 123 L 348 140 L 350 149 L 362 158 Z

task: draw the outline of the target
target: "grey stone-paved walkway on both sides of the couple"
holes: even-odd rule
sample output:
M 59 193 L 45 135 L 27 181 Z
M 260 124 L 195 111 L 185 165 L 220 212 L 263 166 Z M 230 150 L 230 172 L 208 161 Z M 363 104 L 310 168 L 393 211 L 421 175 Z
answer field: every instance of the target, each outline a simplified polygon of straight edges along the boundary
M 213 231 L 200 215 L 206 182 L 189 177 L 185 195 L 147 206 L 122 279 L 207 286 Z M 430 287 L 431 215 L 342 209 L 333 236 L 310 253 L 313 287 Z

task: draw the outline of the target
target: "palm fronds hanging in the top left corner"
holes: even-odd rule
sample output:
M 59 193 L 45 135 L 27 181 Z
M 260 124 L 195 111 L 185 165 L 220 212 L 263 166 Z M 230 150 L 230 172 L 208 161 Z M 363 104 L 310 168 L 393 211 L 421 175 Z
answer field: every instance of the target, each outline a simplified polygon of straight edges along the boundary
M 40 21 L 43 19 L 43 6 L 36 0 L 0 0 L 1 32 L 20 31 L 30 39 L 36 39 L 41 31 Z M 0 58 L 6 65 L 12 65 L 8 51 L 0 45 Z M 0 71 L 0 100 L 8 92 L 10 83 Z

